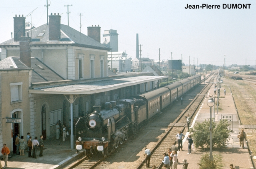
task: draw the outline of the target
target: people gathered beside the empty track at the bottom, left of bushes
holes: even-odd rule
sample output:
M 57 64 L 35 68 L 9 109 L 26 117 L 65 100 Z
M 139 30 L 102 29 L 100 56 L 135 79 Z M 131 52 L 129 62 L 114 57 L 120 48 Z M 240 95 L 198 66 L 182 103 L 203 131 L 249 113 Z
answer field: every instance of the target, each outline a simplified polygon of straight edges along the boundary
M 184 139 L 185 135 L 181 133 L 181 131 L 179 131 L 179 133 L 176 135 L 176 140 L 178 140 L 178 147 L 176 146 L 176 141 L 173 143 L 173 145 L 168 148 L 167 153 L 163 153 L 164 155 L 164 160 L 161 160 L 163 163 L 163 167 L 164 169 L 177 169 L 177 165 L 178 165 L 178 155 L 177 155 L 177 151 L 182 151 L 182 139 Z M 191 135 L 188 135 L 188 153 L 187 154 L 191 154 L 191 146 L 193 144 L 193 140 L 191 138 Z M 150 164 L 150 157 L 151 157 L 151 153 L 150 150 L 145 147 L 145 153 L 144 156 L 146 155 L 146 167 L 149 167 Z M 187 169 L 188 168 L 188 163 L 186 159 L 182 160 L 183 166 L 182 169 Z M 155 166 L 153 166 L 154 168 Z

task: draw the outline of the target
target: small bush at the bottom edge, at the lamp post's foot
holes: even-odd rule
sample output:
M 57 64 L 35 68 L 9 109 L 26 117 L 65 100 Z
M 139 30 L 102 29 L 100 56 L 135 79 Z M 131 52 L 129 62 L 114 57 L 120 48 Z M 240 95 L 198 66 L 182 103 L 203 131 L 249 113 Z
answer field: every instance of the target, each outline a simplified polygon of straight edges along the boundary
M 210 161 L 210 153 L 202 155 L 198 165 L 199 169 L 221 169 L 221 160 L 222 157 L 217 154 L 213 154 L 213 161 Z

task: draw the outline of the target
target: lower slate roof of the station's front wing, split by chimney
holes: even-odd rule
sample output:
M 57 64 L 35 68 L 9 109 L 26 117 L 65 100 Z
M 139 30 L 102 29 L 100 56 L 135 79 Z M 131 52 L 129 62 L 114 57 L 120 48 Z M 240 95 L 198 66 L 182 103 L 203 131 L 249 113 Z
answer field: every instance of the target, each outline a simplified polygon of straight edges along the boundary
M 17 56 L 10 56 L 0 61 L 0 69 L 10 69 L 11 66 L 13 66 L 13 69 L 29 69 L 25 64 L 20 62 L 20 57 Z M 65 80 L 38 58 L 31 58 L 31 68 L 33 69 L 32 83 Z

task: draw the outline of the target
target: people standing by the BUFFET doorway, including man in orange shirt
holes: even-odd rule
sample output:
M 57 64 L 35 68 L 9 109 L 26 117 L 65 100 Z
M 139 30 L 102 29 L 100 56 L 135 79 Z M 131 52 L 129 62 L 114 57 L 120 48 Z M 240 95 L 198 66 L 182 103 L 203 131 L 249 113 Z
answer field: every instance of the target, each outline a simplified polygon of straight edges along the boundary
M 28 133 L 28 135 L 27 135 L 28 157 L 33 157 L 36 159 L 37 158 L 36 152 L 37 152 L 38 147 L 40 148 L 39 157 L 42 157 L 43 156 L 43 147 L 44 147 L 44 141 L 43 141 L 44 136 L 40 135 L 39 141 L 37 140 L 37 137 L 35 137 L 35 139 L 33 141 L 31 140 L 31 138 L 32 137 L 30 136 L 30 133 Z M 16 145 L 16 154 L 17 155 L 25 155 L 24 149 L 26 147 L 26 142 L 25 142 L 23 136 L 20 137 L 19 134 L 16 135 L 15 145 Z M 32 151 L 33 151 L 33 154 L 31 155 Z M 7 167 L 7 161 L 8 161 L 9 154 L 10 154 L 10 150 L 8 147 L 6 147 L 6 144 L 4 144 L 4 147 L 2 148 L 4 167 Z M 1 163 L 0 163 L 0 169 L 2 169 Z

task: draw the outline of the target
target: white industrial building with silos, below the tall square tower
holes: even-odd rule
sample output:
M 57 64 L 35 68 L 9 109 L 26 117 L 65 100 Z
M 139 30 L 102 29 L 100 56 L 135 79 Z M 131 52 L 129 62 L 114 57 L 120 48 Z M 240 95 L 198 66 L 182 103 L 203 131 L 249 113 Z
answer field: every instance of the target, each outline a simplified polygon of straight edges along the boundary
M 125 52 L 108 52 L 108 68 L 116 68 L 117 72 L 130 72 L 131 71 L 131 60 L 128 58 Z

